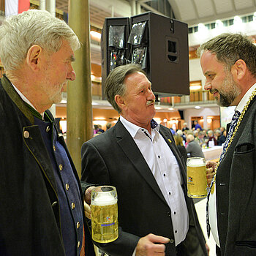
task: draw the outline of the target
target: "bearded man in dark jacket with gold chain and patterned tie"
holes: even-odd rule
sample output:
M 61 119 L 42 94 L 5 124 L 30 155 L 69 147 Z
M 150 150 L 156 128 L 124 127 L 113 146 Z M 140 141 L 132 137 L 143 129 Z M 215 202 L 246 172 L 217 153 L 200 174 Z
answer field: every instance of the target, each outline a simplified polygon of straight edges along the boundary
M 208 236 L 217 255 L 256 255 L 256 46 L 241 34 L 221 34 L 197 53 L 205 89 L 220 106 L 236 106 L 208 194 Z M 220 248 L 220 249 L 219 249 Z

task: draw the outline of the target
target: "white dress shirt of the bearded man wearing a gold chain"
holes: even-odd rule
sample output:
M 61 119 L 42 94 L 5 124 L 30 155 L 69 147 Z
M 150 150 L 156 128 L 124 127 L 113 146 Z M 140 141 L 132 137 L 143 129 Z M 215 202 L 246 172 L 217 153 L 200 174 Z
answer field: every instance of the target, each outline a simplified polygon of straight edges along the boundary
M 254 91 L 256 88 L 256 83 L 248 90 L 246 91 L 246 94 L 244 94 L 244 97 L 241 99 L 241 101 L 238 103 L 236 110 L 238 110 L 240 113 L 242 113 L 244 106 L 246 105 L 246 102 L 248 101 L 249 97 L 252 94 L 252 91 Z M 209 208 L 208 208 L 208 214 L 209 214 L 209 222 L 211 226 L 211 233 L 214 237 L 215 243 L 217 246 L 219 245 L 219 233 L 218 233 L 218 225 L 217 225 L 217 201 L 216 201 L 216 186 L 214 186 L 214 193 L 210 194 L 209 197 Z

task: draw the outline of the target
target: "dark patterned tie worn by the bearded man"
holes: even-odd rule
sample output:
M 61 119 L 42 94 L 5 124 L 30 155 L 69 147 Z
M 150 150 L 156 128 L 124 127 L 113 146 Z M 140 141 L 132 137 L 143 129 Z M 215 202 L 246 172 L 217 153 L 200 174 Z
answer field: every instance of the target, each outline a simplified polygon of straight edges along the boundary
M 238 118 L 239 118 L 240 115 L 241 115 L 241 113 L 238 110 L 236 110 L 235 113 L 234 113 L 234 116 L 232 118 L 232 121 L 230 123 L 230 129 L 228 130 L 228 133 L 227 133 L 227 138 L 226 138 L 226 141 L 225 141 L 224 146 L 223 146 L 222 154 L 219 157 L 219 163 L 222 161 L 223 157 L 225 156 L 225 153 L 227 151 L 228 143 L 230 143 L 230 138 L 233 135 L 234 129 L 236 127 L 236 124 L 237 124 L 237 121 L 238 121 Z M 215 173 L 215 175 L 216 175 L 216 173 Z M 211 181 L 211 186 L 210 186 L 210 189 L 208 190 L 208 194 L 207 194 L 206 228 L 207 228 L 208 238 L 210 237 L 210 230 L 211 230 L 210 223 L 209 223 L 209 216 L 208 216 L 208 206 L 209 206 L 208 203 L 209 203 L 209 198 L 210 198 L 210 194 L 211 194 L 211 188 L 214 185 L 215 178 L 216 177 L 214 176 L 214 178 Z

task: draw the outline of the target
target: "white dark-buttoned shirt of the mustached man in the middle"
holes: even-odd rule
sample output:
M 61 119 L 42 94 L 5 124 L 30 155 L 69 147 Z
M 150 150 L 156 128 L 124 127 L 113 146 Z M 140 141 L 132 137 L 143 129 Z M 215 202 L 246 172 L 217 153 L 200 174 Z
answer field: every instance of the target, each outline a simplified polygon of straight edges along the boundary
M 159 125 L 157 128 L 151 128 L 150 135 L 147 129 L 132 124 L 122 116 L 120 116 L 120 121 L 135 140 L 157 181 L 162 195 L 165 197 L 167 205 L 170 207 L 173 233 L 177 246 L 187 236 L 189 214 L 184 192 L 181 188 L 181 173 L 176 157 L 170 147 L 167 146 L 165 139 L 160 135 Z

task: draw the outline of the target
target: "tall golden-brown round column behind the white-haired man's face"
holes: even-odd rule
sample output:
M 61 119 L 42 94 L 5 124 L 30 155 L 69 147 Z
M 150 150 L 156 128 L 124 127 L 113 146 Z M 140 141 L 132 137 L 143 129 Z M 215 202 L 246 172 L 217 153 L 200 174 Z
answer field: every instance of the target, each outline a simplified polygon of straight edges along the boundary
M 67 86 L 67 146 L 79 176 L 81 146 L 93 134 L 89 17 L 89 0 L 69 0 L 69 26 L 82 42 L 73 64 L 76 79 Z

